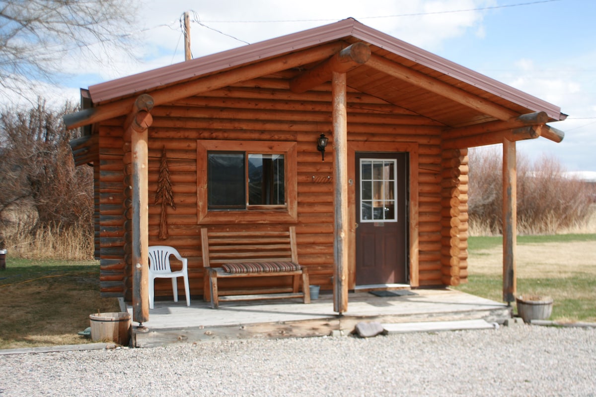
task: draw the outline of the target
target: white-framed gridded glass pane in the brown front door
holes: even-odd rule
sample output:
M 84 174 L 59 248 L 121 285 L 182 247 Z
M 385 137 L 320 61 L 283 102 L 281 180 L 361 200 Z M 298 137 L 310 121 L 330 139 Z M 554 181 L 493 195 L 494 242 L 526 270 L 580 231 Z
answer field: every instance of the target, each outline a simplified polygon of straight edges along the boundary
M 396 160 L 360 160 L 360 222 L 397 222 Z

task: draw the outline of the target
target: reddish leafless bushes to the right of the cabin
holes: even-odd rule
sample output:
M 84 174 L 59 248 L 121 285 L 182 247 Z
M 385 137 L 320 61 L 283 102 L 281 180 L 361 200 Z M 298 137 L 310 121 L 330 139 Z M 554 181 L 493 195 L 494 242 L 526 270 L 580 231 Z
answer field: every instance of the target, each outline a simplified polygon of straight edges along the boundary
M 468 215 L 471 234 L 502 234 L 502 155 L 495 147 L 470 150 Z M 517 155 L 519 234 L 582 231 L 594 208 L 590 186 L 566 177 L 554 157 L 535 162 Z

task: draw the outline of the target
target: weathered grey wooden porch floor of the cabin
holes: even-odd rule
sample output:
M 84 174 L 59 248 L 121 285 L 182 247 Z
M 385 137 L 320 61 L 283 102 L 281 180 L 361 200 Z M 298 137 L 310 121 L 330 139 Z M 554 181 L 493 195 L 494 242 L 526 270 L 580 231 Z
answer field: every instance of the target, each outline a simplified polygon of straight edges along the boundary
M 153 347 L 176 342 L 210 340 L 324 336 L 352 332 L 359 322 L 383 324 L 484 319 L 503 323 L 511 318 L 511 307 L 451 289 L 415 289 L 416 295 L 377 297 L 368 292 L 351 292 L 348 311 L 333 311 L 333 295 L 322 292 L 318 300 L 222 301 L 213 310 L 202 299 L 186 306 L 156 301 L 145 330 L 133 323 L 133 344 Z M 132 308 L 129 307 L 132 313 Z

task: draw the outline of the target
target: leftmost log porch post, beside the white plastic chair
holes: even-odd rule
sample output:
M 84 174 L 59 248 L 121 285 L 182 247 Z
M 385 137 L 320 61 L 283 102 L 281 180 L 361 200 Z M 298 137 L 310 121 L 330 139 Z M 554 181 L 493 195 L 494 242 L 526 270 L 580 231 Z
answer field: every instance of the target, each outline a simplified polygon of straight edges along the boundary
M 132 154 L 132 320 L 149 320 L 149 200 L 147 131 L 153 122 L 149 113 L 153 98 L 143 94 L 125 122 L 125 139 L 131 139 Z

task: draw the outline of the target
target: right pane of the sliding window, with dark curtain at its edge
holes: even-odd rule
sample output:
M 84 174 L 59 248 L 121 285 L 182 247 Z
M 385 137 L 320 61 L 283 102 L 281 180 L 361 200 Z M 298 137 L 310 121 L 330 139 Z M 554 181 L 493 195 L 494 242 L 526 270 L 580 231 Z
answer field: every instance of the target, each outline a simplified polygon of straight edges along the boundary
M 249 205 L 285 204 L 284 155 L 249 155 Z

